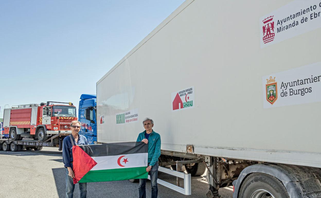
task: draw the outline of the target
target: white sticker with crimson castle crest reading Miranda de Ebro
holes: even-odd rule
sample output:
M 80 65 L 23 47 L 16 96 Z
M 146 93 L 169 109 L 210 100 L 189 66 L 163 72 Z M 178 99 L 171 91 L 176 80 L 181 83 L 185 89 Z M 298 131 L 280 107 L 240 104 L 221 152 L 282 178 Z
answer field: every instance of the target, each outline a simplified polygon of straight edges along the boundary
M 321 27 L 321 1 L 296 0 L 259 21 L 261 48 Z

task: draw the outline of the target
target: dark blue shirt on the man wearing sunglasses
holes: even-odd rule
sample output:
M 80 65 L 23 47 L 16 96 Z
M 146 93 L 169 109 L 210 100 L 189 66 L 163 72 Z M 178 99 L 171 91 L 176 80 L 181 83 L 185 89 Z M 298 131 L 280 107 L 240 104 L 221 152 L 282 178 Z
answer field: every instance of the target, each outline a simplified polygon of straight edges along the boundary
M 86 145 L 89 144 L 87 141 L 87 138 L 83 135 L 79 135 L 78 142 L 75 142 L 75 139 L 73 136 L 71 136 L 74 140 L 75 145 Z M 64 141 L 62 142 L 62 159 L 65 164 L 65 167 L 71 167 L 73 168 L 73 164 L 71 163 L 73 161 L 73 144 L 70 141 L 70 137 L 67 136 L 64 138 Z

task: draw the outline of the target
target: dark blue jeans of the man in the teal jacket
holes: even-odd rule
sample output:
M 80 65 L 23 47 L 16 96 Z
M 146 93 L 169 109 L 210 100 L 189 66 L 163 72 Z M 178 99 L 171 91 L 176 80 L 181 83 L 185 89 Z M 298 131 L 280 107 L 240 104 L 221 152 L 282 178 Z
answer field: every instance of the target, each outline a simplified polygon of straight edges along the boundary
M 151 176 L 152 198 L 156 198 L 158 194 L 158 162 L 156 162 L 156 164 L 152 166 L 152 169 L 148 174 Z M 147 179 L 139 179 L 139 198 L 146 198 L 146 180 Z

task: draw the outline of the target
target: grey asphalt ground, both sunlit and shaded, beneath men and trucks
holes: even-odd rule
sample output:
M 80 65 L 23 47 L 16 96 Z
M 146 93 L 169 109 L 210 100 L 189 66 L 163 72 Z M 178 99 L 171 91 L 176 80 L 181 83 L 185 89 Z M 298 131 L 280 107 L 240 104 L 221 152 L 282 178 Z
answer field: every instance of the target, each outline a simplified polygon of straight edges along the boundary
M 58 148 L 43 147 L 41 151 L 0 151 L 0 197 L 65 197 L 65 168 Z M 159 178 L 176 184 L 176 177 L 159 172 Z M 87 197 L 138 197 L 138 183 L 129 181 L 87 184 Z M 158 185 L 158 197 L 206 197 L 208 184 L 205 174 L 192 177 L 192 195 L 183 195 Z M 232 187 L 219 190 L 222 198 L 232 198 Z M 151 185 L 146 184 L 151 197 Z M 80 197 L 78 184 L 74 197 Z

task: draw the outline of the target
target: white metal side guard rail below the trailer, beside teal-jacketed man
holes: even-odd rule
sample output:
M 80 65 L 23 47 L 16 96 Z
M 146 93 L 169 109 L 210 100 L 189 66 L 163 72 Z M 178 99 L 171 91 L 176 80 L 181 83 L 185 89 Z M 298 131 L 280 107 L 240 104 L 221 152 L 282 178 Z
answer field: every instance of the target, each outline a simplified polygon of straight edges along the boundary
M 163 168 L 163 167 L 158 167 L 158 171 L 163 172 L 163 173 L 167 173 L 169 175 L 173 175 L 179 178 L 183 178 L 184 179 L 184 188 L 179 187 L 177 185 L 171 184 L 169 182 L 166 182 L 164 180 L 161 179 L 157 179 L 157 183 L 160 185 L 163 185 L 165 187 L 168 187 L 172 190 L 175 190 L 181 194 L 185 194 L 185 195 L 191 195 L 191 174 L 185 174 L 182 172 L 178 172 L 175 170 L 171 170 L 168 168 Z M 150 180 L 151 177 L 150 175 L 148 175 L 148 179 Z

